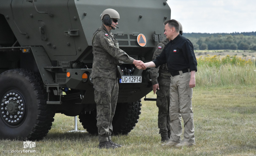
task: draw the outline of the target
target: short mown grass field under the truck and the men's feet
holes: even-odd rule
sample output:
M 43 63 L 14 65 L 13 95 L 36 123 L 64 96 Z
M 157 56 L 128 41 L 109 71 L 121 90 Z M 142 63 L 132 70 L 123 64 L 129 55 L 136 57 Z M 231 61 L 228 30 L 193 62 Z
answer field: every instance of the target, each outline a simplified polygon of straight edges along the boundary
M 113 136 L 123 147 L 98 149 L 98 137 L 70 133 L 74 117 L 56 114 L 48 135 L 36 142 L 40 153 L 24 155 L 256 155 L 256 85 L 195 87 L 192 98 L 196 146 L 162 147 L 158 108 L 142 100 L 142 113 L 128 135 Z M 148 98 L 155 97 L 153 93 Z M 78 129 L 83 127 L 78 123 Z M 0 151 L 23 150 L 23 141 L 0 140 Z M 22 155 L 1 153 L 3 155 Z

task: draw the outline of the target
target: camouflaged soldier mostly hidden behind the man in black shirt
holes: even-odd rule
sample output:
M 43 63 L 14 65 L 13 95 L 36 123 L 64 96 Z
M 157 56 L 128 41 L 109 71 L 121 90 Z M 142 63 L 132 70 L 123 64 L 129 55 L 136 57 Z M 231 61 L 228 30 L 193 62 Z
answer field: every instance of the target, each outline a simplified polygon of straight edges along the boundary
M 182 25 L 179 23 L 179 33 L 182 35 Z M 153 60 L 162 53 L 165 45 L 170 40 L 161 41 L 157 44 L 153 55 Z M 159 72 L 159 73 L 158 73 Z M 161 142 L 169 141 L 170 137 L 170 117 L 169 117 L 169 106 L 170 106 L 170 77 L 172 76 L 168 72 L 167 64 L 162 64 L 158 68 L 151 68 L 150 70 L 153 92 L 156 93 L 156 106 L 158 107 L 158 128 L 159 134 L 161 135 Z M 158 89 L 156 91 L 156 89 Z M 180 116 L 181 118 L 181 116 Z

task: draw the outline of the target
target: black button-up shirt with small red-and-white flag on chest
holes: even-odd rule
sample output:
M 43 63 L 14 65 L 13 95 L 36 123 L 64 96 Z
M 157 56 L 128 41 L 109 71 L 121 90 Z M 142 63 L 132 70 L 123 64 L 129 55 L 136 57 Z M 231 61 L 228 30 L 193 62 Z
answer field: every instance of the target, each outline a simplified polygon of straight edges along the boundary
M 163 52 L 153 60 L 157 68 L 167 63 L 169 72 L 190 69 L 197 71 L 197 60 L 193 44 L 180 34 L 166 44 Z

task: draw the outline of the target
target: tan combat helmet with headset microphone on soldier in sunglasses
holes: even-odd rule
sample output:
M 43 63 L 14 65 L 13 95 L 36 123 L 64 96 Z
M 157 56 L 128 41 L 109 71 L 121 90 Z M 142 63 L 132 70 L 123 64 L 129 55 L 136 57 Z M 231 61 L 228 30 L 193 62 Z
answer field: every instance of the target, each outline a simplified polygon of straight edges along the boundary
M 115 29 L 111 26 L 113 19 L 120 19 L 119 13 L 114 9 L 106 9 L 100 15 L 100 20 L 102 20 L 102 23 L 104 25 L 109 26 L 112 29 Z

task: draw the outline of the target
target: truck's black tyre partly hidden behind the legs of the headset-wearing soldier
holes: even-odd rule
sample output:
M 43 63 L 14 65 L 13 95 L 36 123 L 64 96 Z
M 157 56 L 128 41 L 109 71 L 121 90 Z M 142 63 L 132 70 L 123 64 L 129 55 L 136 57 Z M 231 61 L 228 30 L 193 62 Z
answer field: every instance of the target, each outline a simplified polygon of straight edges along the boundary
M 113 117 L 113 135 L 128 134 L 138 123 L 141 114 L 141 100 L 131 103 L 118 103 Z M 98 134 L 96 110 L 79 114 L 79 121 L 90 134 Z

